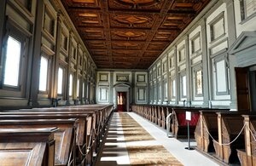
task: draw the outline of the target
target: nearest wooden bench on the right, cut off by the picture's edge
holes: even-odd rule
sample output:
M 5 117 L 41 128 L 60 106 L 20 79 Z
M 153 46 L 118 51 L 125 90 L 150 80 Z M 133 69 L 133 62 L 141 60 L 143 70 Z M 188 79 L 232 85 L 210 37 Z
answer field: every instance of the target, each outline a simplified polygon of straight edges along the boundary
M 256 165 L 256 115 L 243 115 L 245 149 L 236 149 L 237 156 L 242 166 Z

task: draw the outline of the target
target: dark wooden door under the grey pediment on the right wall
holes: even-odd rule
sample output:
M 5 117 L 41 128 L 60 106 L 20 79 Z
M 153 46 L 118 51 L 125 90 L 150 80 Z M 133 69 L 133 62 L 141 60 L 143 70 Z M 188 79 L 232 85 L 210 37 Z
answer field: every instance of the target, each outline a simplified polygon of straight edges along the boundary
M 237 110 L 251 111 L 248 69 L 236 67 Z

